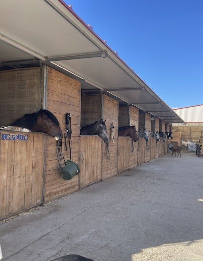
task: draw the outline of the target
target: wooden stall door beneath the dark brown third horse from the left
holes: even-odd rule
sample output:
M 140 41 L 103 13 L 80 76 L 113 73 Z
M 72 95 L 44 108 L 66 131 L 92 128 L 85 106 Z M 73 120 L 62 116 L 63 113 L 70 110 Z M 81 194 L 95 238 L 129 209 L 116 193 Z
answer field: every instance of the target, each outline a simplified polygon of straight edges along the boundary
M 129 169 L 129 137 L 118 137 L 118 161 L 117 161 L 117 173 Z

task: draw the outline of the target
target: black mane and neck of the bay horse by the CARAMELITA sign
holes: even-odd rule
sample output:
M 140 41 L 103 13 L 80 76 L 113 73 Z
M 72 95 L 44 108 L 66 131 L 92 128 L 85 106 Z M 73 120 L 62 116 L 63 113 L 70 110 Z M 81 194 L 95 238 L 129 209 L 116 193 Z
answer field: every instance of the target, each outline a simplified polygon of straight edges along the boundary
M 32 130 L 37 123 L 37 117 L 39 115 L 46 114 L 51 121 L 53 121 L 59 127 L 59 121 L 57 118 L 48 110 L 40 109 L 38 112 L 33 112 L 25 114 L 23 117 L 17 119 L 15 122 L 11 123 L 10 126 L 23 127 L 29 130 Z

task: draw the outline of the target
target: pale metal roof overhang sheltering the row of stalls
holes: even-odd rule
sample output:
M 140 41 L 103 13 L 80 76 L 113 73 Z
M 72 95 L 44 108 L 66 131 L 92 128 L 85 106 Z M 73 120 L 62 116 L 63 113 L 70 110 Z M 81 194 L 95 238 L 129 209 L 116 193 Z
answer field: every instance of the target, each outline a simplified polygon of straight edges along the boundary
M 170 122 L 185 123 L 62 0 L 0 1 L 0 65 L 45 64 Z M 72 74 L 73 73 L 73 74 Z

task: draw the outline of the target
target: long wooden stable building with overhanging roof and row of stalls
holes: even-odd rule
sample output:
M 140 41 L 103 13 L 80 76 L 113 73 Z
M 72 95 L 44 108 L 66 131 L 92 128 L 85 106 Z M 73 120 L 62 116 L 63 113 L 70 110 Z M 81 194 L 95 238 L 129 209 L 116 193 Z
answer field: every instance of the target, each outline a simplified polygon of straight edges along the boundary
M 80 166 L 79 175 L 64 180 L 53 137 L 0 131 L 0 219 L 167 153 L 167 142 L 161 138 L 157 144 L 151 131 L 170 131 L 184 120 L 70 6 L 62 0 L 0 4 L 0 125 L 42 108 L 65 133 L 70 113 L 71 159 Z M 80 135 L 81 127 L 102 118 L 110 158 L 99 136 Z M 148 146 L 140 138 L 133 151 L 129 137 L 118 137 L 125 125 L 146 129 Z M 4 139 L 5 133 L 27 138 Z M 70 158 L 69 151 L 63 153 Z

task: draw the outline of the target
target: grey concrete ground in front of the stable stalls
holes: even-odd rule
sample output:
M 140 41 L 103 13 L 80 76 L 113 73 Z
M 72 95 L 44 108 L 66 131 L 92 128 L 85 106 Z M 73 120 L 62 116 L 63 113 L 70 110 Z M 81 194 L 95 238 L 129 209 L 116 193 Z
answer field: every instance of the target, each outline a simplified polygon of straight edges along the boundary
M 3 260 L 203 261 L 203 157 L 170 155 L 1 224 Z

